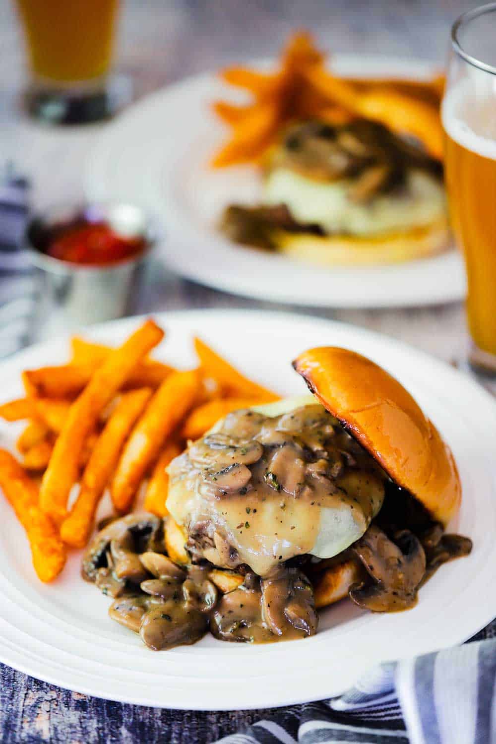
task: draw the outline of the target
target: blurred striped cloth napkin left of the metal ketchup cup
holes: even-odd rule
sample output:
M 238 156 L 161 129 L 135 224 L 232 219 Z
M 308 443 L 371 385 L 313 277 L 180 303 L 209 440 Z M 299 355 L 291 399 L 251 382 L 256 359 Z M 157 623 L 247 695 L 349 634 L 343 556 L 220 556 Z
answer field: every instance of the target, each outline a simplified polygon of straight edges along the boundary
M 7 165 L 0 173 L 0 358 L 31 340 L 36 278 L 22 235 L 28 217 L 29 187 Z

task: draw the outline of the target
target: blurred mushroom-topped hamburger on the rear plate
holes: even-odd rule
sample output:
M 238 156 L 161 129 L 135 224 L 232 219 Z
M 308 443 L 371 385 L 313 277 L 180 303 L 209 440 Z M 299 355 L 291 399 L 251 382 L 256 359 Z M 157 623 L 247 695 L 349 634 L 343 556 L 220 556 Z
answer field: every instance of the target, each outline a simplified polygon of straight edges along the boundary
M 220 227 L 321 266 L 430 256 L 448 246 L 442 165 L 377 122 L 295 124 L 265 155 L 261 203 Z

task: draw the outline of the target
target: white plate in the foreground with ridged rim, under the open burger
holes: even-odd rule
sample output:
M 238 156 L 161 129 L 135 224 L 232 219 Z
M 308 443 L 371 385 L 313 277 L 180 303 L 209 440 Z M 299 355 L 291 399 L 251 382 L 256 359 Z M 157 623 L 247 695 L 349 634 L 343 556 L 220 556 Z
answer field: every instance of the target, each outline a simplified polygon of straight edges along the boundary
M 199 644 L 152 652 L 107 616 L 109 599 L 80 578 L 74 551 L 50 585 L 33 572 L 22 528 L 0 500 L 0 660 L 71 690 L 163 708 L 225 710 L 323 699 L 340 693 L 372 664 L 460 643 L 496 615 L 496 405 L 461 373 L 397 341 L 358 328 L 252 311 L 170 312 L 158 315 L 167 341 L 158 356 L 193 363 L 198 333 L 248 375 L 281 394 L 298 394 L 297 353 L 338 344 L 380 362 L 408 387 L 454 451 L 464 499 L 453 525 L 474 541 L 468 558 L 443 566 L 420 591 L 415 609 L 371 615 L 344 601 L 321 613 L 313 638 L 266 646 L 228 644 L 207 636 Z M 138 324 L 129 318 L 88 336 L 115 344 Z M 32 347 L 1 367 L 1 398 L 22 394 L 24 368 L 62 362 L 66 341 Z M 0 426 L 12 446 L 13 426 Z

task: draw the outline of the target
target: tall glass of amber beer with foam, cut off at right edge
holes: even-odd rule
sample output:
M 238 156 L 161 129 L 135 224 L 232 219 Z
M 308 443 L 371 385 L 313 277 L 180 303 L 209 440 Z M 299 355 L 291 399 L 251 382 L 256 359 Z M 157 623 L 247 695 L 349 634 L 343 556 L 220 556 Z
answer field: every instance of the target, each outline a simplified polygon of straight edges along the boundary
M 496 3 L 454 23 L 442 124 L 451 225 L 466 263 L 469 362 L 496 376 Z

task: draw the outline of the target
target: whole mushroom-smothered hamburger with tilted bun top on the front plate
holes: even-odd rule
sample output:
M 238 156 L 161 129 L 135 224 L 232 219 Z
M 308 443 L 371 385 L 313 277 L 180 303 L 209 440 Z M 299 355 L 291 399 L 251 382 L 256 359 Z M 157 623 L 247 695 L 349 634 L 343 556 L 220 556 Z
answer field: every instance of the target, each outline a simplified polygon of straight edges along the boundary
M 155 650 L 306 638 L 318 609 L 416 604 L 471 541 L 450 449 L 381 367 L 337 347 L 294 361 L 309 394 L 233 411 L 175 458 L 163 522 L 131 513 L 100 530 L 83 577 L 112 619 Z M 165 498 L 165 495 L 164 495 Z

